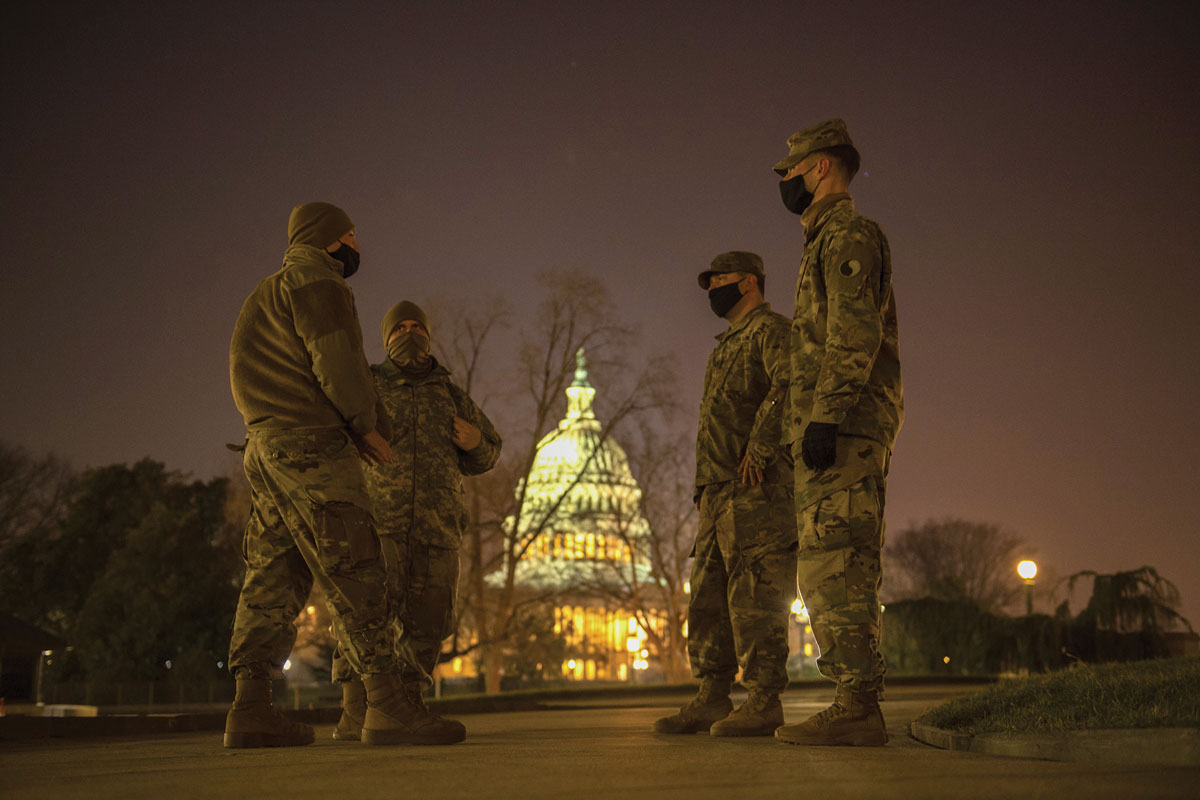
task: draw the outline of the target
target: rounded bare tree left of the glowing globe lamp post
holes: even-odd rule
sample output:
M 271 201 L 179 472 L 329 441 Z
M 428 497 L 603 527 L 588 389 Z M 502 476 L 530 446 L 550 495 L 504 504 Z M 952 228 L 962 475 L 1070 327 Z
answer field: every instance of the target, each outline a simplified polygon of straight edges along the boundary
M 1016 563 L 1030 554 L 1025 541 L 997 525 L 930 519 L 888 541 L 884 558 L 889 597 L 936 597 L 998 610 L 1020 597 Z

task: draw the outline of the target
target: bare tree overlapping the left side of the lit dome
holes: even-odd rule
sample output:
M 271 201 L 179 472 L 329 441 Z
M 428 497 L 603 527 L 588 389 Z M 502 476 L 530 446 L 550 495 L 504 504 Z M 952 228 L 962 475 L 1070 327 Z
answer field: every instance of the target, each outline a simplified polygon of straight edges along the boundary
M 589 367 L 604 377 L 601 441 L 616 426 L 662 407 L 671 397 L 661 363 L 632 365 L 631 332 L 617 320 L 601 282 L 580 272 L 547 272 L 539 283 L 544 300 L 520 330 L 515 363 L 485 354 L 499 319 L 484 318 L 470 331 L 463 321 L 452 337 L 458 349 L 448 348 L 446 353 L 469 377 L 469 391 L 480 385 L 484 365 L 506 375 L 511 387 L 506 396 L 503 391 L 493 395 L 508 399 L 514 420 L 503 432 L 500 463 L 488 475 L 468 482 L 470 523 L 462 552 L 461 625 L 452 642 L 456 655 L 481 650 L 488 691 L 499 688 L 504 650 L 514 631 L 524 624 L 527 609 L 548 603 L 557 594 L 552 587 L 522 585 L 517 565 L 553 524 L 586 471 L 581 470 L 556 497 L 532 503 L 524 477 L 534 465 L 542 435 L 563 415 L 564 390 L 575 375 L 576 353 L 586 349 Z M 492 409 L 487 411 L 493 414 Z

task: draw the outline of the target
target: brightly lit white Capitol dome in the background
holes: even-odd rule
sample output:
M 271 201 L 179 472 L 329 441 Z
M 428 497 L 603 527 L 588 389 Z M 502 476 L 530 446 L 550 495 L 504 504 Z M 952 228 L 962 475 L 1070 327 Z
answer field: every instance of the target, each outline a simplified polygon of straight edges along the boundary
M 517 487 L 518 498 L 527 488 L 518 531 L 533 540 L 517 564 L 518 583 L 568 589 L 649 579 L 642 491 L 625 451 L 595 416 L 595 395 L 581 348 L 566 416 L 538 443 L 528 486 Z

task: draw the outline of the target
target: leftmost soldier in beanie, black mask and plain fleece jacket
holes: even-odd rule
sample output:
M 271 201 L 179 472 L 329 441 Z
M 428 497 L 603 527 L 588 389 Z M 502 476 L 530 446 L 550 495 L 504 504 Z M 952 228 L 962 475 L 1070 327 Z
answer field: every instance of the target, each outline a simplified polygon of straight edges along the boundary
M 354 224 L 329 203 L 292 211 L 283 267 L 242 305 L 229 345 L 246 422 L 251 517 L 246 578 L 229 644 L 236 697 L 227 747 L 306 745 L 312 728 L 271 705 L 271 680 L 295 643 L 295 616 L 320 587 L 334 633 L 364 676 L 368 744 L 462 739 L 412 703 L 391 646 L 384 564 L 359 458 L 391 461 L 388 416 L 362 355 L 346 277 L 359 265 Z M 370 732 L 370 735 L 367 733 Z

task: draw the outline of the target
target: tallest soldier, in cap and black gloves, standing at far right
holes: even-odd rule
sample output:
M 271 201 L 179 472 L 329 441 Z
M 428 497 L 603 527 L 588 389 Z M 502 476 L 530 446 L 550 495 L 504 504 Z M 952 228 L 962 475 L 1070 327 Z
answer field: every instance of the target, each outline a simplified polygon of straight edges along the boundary
M 841 120 L 793 134 L 775 164 L 804 224 L 792 320 L 788 426 L 800 531 L 798 577 L 817 666 L 835 699 L 775 736 L 796 745 L 882 745 L 880 553 L 888 465 L 904 419 L 892 255 L 859 216 L 859 155 Z

